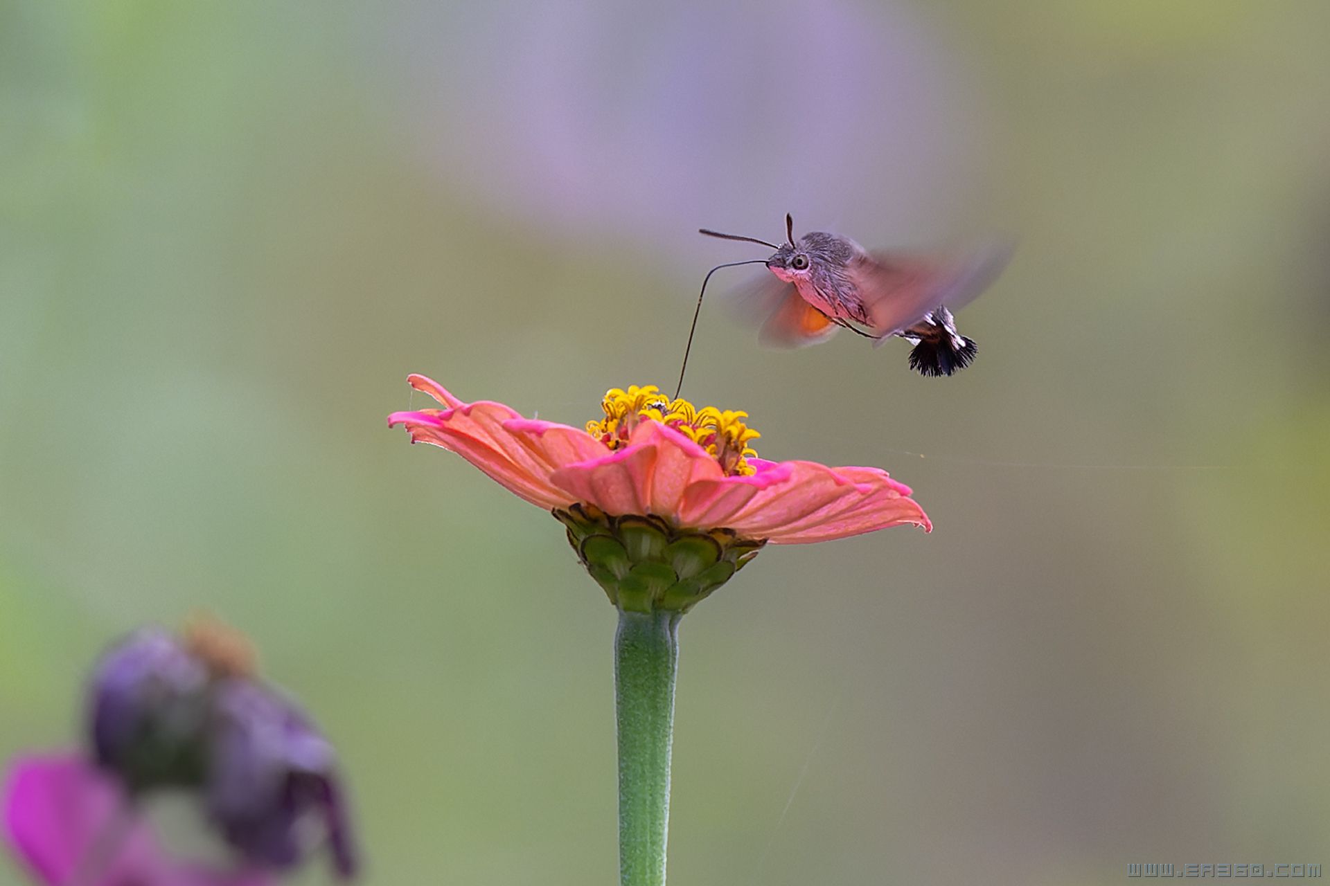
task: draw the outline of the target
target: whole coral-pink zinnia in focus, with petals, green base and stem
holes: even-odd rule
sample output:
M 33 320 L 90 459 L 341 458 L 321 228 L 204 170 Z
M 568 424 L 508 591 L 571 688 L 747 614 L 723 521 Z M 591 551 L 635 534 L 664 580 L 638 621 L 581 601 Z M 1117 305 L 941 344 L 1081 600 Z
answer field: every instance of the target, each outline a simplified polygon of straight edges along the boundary
M 549 509 L 618 610 L 614 697 L 618 865 L 625 886 L 665 882 L 678 624 L 767 542 L 798 545 L 914 523 L 910 489 L 878 468 L 773 462 L 747 413 L 697 409 L 654 385 L 610 389 L 604 418 L 571 428 L 501 402 L 463 402 L 411 376 L 443 409 L 395 412 L 412 442 L 450 449 Z

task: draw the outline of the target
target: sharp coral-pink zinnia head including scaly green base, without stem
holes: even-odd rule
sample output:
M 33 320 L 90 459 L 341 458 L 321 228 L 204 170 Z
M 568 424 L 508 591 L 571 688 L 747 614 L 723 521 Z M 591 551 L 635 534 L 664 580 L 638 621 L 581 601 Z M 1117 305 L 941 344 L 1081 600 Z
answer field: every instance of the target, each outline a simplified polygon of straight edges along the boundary
M 583 429 L 463 402 L 424 376 L 408 381 L 446 408 L 396 412 L 388 424 L 552 510 L 620 608 L 685 611 L 767 542 L 931 527 L 884 470 L 758 458 L 747 413 L 698 409 L 654 385 L 610 389 L 604 418 Z

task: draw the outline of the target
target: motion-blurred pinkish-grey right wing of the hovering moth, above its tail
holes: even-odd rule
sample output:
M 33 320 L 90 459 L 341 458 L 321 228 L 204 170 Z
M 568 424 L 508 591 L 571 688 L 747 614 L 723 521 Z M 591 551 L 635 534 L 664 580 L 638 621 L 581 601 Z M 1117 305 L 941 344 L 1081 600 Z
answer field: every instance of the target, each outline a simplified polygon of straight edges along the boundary
M 1011 251 L 1009 243 L 990 243 L 944 262 L 879 252 L 861 256 L 846 274 L 863 299 L 874 335 L 886 337 L 939 307 L 956 310 L 974 302 Z

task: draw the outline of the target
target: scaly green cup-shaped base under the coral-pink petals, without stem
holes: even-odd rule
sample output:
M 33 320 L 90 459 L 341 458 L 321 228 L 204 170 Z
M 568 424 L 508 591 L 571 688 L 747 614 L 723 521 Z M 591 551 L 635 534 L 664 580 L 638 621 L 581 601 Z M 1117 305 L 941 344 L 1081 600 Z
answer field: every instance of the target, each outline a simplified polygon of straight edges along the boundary
M 589 505 L 555 517 L 568 527 L 583 566 L 624 612 L 686 612 L 766 545 L 733 529 L 677 529 L 660 517 L 609 517 Z

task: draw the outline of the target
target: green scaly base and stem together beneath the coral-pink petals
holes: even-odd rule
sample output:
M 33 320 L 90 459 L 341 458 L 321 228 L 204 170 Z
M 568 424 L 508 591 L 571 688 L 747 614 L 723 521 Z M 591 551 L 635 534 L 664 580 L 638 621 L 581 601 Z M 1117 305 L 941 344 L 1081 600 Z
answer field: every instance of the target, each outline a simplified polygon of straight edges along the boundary
M 609 602 L 618 729 L 620 886 L 665 886 L 669 758 L 678 623 L 766 543 L 730 529 L 677 529 L 653 515 L 610 517 L 588 505 L 556 510 L 568 543 Z

